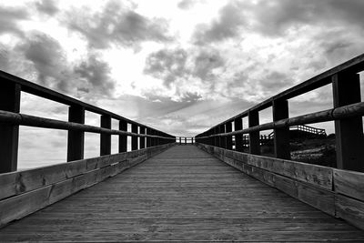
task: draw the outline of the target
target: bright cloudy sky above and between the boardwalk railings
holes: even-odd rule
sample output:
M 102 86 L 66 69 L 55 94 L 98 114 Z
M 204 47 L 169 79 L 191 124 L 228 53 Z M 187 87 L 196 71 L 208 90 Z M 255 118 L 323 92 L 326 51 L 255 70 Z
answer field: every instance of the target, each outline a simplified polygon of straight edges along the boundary
M 2 0 L 0 69 L 194 136 L 361 54 L 363 13 L 362 0 Z M 332 107 L 331 87 L 289 107 L 290 116 Z M 26 94 L 21 112 L 67 118 L 66 106 Z M 22 127 L 20 139 L 21 161 L 66 157 L 64 131 Z M 87 134 L 86 156 L 97 140 Z

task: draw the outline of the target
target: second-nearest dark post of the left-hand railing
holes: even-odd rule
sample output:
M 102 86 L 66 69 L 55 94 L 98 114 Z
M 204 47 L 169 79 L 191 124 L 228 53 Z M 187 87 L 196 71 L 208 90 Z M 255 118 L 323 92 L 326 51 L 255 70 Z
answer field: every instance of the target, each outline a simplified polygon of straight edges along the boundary
M 85 124 L 85 107 L 69 106 L 68 121 Z M 85 132 L 68 130 L 67 161 L 84 158 Z

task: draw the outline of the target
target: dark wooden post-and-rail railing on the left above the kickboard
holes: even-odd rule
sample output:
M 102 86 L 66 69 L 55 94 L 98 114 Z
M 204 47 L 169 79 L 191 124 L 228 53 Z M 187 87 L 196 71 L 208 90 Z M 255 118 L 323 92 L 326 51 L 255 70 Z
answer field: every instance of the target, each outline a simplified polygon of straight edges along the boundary
M 68 121 L 20 114 L 22 91 L 69 106 Z M 85 111 L 101 115 L 100 127 L 85 125 Z M 118 121 L 119 129 L 111 129 L 112 119 Z M 128 124 L 131 125 L 129 132 Z M 19 126 L 67 130 L 67 161 L 84 158 L 85 132 L 100 134 L 100 156 L 111 154 L 111 135 L 119 136 L 119 153 L 126 152 L 127 137 L 131 137 L 133 151 L 176 142 L 176 137 L 165 132 L 0 71 L 0 173 L 17 168 Z

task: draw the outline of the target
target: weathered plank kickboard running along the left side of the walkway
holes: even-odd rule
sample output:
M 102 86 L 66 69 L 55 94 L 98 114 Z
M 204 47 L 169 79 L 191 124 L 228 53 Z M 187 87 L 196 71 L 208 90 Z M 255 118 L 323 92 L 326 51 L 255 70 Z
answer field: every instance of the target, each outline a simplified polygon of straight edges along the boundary
M 50 167 L 40 167 L 0 176 L 5 185 L 0 200 L 0 227 L 40 208 L 114 177 L 171 145 L 151 147 L 119 155 L 96 157 Z M 126 158 L 124 160 L 118 160 Z M 87 169 L 87 165 L 90 165 Z M 3 187 L 2 187 L 3 189 Z M 2 190 L 3 191 L 3 190 Z

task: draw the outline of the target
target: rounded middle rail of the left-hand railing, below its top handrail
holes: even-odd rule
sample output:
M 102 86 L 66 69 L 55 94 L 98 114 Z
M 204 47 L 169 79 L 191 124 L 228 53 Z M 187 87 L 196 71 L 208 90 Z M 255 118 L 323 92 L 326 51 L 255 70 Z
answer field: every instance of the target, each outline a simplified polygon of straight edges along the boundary
M 22 125 L 27 127 L 42 127 L 42 128 L 61 129 L 61 130 L 84 131 L 84 132 L 98 133 L 98 134 L 124 135 L 130 137 L 153 137 L 153 138 L 165 138 L 170 140 L 176 140 L 175 137 L 161 137 L 155 135 L 137 134 L 122 130 L 108 129 L 104 127 L 94 127 L 75 122 L 66 122 L 56 119 L 49 119 L 45 117 L 29 116 L 25 114 L 8 112 L 4 110 L 0 110 L 0 122 Z

